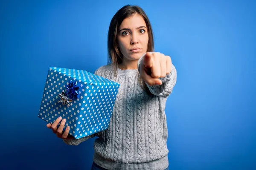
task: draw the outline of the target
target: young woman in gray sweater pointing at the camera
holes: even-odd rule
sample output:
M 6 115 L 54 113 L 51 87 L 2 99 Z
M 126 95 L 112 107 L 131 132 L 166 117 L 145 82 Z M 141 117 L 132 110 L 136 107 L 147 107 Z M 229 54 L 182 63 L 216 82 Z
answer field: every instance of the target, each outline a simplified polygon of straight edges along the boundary
M 63 132 L 66 120 L 61 117 L 47 127 L 70 145 L 99 137 L 92 170 L 167 170 L 165 105 L 177 72 L 169 56 L 154 52 L 151 24 L 142 8 L 123 6 L 113 16 L 108 54 L 108 65 L 95 71 L 120 83 L 108 129 L 74 139 L 69 127 Z

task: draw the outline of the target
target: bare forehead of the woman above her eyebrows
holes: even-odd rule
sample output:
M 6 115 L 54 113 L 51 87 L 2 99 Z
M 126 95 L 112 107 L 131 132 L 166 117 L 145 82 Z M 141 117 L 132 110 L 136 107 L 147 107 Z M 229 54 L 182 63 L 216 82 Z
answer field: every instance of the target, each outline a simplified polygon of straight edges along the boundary
M 140 14 L 134 14 L 131 17 L 125 18 L 119 28 L 137 28 L 139 26 L 146 26 L 146 23 Z

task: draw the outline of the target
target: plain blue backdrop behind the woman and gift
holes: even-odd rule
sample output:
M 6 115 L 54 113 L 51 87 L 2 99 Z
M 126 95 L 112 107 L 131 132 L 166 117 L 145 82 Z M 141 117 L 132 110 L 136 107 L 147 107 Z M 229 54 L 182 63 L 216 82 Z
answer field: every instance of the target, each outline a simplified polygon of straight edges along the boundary
M 49 67 L 94 72 L 107 62 L 111 18 L 139 5 L 177 84 L 166 104 L 169 168 L 256 169 L 256 1 L 0 3 L 0 165 L 89 170 L 94 139 L 77 147 L 37 117 Z

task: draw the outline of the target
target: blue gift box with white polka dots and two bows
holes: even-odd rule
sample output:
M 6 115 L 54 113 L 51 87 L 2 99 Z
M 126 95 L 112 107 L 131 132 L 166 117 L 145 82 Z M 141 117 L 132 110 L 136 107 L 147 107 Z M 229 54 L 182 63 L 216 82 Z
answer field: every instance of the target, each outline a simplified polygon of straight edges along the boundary
M 38 117 L 52 124 L 62 116 L 76 139 L 98 133 L 108 129 L 119 87 L 88 71 L 50 67 Z

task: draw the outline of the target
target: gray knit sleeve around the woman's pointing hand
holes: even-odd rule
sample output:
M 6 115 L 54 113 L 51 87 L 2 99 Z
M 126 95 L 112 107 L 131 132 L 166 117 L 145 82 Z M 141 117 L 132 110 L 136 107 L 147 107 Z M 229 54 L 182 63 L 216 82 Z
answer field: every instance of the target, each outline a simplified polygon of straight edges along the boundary
M 143 61 L 144 55 L 140 57 L 138 61 L 138 70 L 140 70 L 140 64 Z M 148 86 L 149 91 L 156 95 L 162 97 L 168 97 L 176 84 L 177 81 L 177 70 L 175 66 L 172 64 L 172 70 L 170 74 L 167 74 L 166 77 L 159 78 L 162 81 L 162 85 L 146 85 Z

